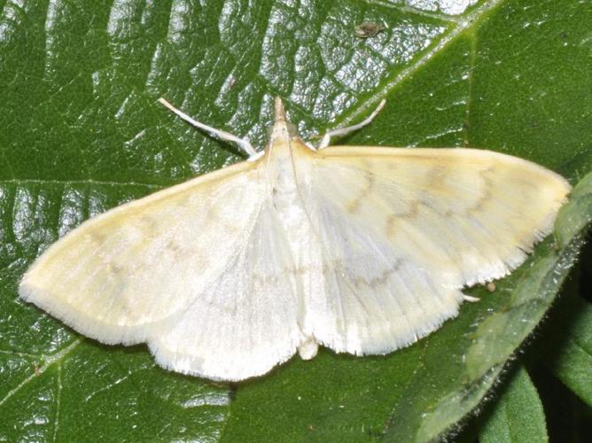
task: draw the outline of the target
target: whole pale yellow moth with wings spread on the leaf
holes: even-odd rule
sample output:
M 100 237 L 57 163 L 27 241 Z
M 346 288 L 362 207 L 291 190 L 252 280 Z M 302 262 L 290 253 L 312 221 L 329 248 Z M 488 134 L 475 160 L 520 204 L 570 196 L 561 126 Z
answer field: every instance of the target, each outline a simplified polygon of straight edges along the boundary
M 458 313 L 549 234 L 570 185 L 475 149 L 303 143 L 275 104 L 249 159 L 85 221 L 43 253 L 22 299 L 91 338 L 147 342 L 167 369 L 258 376 L 318 345 L 386 354 Z M 465 298 L 471 299 L 471 298 Z

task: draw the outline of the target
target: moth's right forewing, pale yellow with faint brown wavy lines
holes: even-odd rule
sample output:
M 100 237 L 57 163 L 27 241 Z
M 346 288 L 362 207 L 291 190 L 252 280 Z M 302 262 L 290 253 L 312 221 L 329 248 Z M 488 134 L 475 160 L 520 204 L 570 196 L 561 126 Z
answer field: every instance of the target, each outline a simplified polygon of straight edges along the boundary
M 410 243 L 401 251 L 463 284 L 522 263 L 571 189 L 532 162 L 474 149 L 336 146 L 319 153 L 314 174 L 352 221 L 397 247 Z

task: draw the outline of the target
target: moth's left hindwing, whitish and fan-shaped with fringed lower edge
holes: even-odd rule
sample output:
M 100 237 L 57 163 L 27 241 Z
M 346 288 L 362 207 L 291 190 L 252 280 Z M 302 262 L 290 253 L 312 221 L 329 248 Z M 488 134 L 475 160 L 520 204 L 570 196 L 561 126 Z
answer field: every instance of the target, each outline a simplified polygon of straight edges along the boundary
M 284 228 L 267 201 L 218 279 L 155 330 L 152 353 L 168 369 L 212 379 L 264 374 L 300 344 L 298 294 Z

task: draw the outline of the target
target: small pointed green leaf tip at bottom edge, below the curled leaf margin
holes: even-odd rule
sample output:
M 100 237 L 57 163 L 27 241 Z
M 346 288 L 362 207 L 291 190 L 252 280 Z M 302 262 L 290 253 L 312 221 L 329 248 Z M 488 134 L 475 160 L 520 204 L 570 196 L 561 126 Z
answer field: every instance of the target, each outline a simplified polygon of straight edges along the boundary
M 522 366 L 513 371 L 502 388 L 485 425 L 479 443 L 549 441 L 541 400 L 528 372 Z

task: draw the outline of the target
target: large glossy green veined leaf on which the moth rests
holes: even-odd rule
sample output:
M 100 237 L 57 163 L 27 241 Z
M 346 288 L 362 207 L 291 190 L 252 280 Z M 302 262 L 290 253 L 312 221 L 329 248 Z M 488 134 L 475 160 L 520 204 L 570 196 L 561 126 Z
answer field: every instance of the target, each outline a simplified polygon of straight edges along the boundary
M 592 8 L 447 4 L 0 0 L 0 439 L 427 440 L 479 404 L 573 263 L 580 199 L 558 249 L 472 290 L 480 303 L 416 345 L 324 350 L 231 394 L 156 368 L 144 346 L 81 338 L 16 292 L 82 220 L 240 158 L 160 96 L 260 146 L 276 95 L 305 137 L 386 97 L 343 143 L 485 147 L 577 182 L 592 168 Z M 360 39 L 364 21 L 385 30 Z

